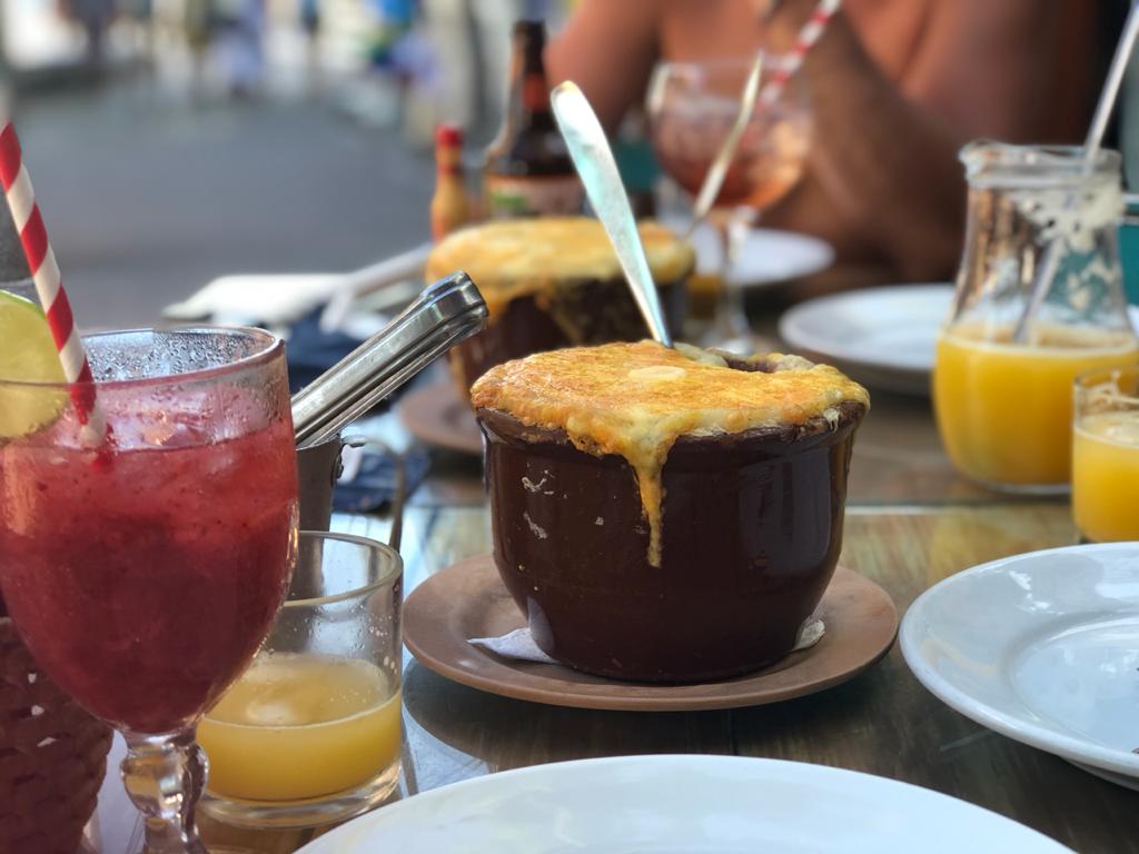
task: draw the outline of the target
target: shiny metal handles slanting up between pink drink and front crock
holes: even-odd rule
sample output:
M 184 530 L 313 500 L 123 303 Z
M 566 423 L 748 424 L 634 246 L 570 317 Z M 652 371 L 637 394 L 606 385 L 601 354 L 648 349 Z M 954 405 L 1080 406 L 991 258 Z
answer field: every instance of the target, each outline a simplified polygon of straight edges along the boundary
M 293 395 L 296 446 L 331 438 L 486 321 L 470 278 L 452 273 L 400 317 Z

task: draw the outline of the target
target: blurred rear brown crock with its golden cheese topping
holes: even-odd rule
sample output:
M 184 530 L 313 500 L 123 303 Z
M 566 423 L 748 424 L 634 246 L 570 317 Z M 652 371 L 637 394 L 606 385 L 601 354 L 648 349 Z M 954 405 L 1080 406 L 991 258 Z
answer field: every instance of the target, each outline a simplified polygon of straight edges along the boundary
M 691 246 L 644 222 L 641 238 L 665 320 L 679 334 Z M 639 340 L 645 321 L 600 223 L 585 216 L 502 220 L 445 238 L 427 261 L 435 272 L 464 270 L 490 310 L 486 327 L 456 346 L 450 362 L 462 397 L 495 364 L 558 347 Z

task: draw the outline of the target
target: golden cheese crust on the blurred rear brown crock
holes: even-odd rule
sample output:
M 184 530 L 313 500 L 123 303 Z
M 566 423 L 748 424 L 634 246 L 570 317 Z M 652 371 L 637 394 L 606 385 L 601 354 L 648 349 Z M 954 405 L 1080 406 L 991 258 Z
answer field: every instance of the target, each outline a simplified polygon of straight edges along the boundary
M 655 222 L 639 230 L 657 284 L 691 272 L 696 255 L 688 241 Z M 478 286 L 492 318 L 521 296 L 623 276 L 605 230 L 588 216 L 500 220 L 457 231 L 432 251 L 426 273 L 435 280 L 456 270 Z

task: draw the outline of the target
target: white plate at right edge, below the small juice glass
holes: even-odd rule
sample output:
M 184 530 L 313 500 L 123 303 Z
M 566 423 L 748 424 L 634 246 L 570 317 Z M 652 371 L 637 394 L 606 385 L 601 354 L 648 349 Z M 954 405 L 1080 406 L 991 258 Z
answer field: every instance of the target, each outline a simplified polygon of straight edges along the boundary
M 1139 787 L 1139 543 L 958 573 L 918 597 L 900 639 L 918 680 L 966 717 Z

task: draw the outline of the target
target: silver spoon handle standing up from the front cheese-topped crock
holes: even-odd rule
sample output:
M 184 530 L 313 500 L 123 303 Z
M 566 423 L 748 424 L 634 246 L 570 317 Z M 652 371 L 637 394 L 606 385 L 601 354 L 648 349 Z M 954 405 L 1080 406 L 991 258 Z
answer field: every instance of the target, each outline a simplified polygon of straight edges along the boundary
M 621 269 L 633 291 L 637 307 L 645 317 L 649 334 L 658 343 L 671 347 L 672 336 L 664 322 L 661 299 L 653 284 L 653 272 L 645 257 L 637 221 L 601 123 L 597 121 L 593 108 L 576 83 L 567 81 L 555 88 L 550 93 L 550 106 L 581 182 L 585 186 L 585 195 L 613 241 L 617 261 L 621 262 Z

